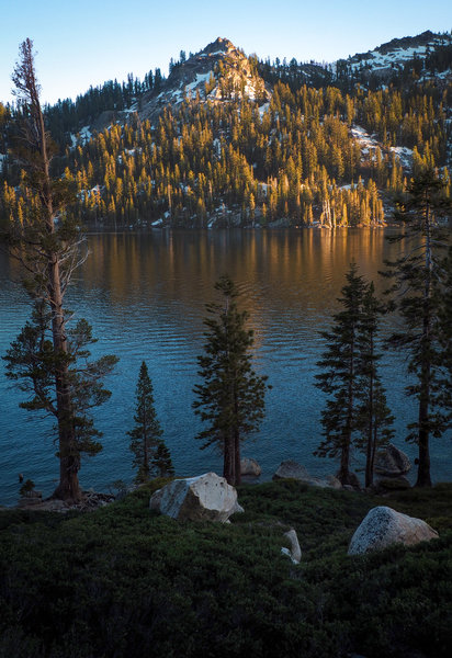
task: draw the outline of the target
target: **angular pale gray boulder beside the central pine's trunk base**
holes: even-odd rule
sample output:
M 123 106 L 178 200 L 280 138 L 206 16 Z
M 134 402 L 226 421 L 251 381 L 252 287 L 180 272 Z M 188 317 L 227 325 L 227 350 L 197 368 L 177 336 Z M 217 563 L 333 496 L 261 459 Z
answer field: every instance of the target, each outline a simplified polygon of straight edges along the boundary
M 176 479 L 156 491 L 149 508 L 178 521 L 221 521 L 242 512 L 237 491 L 216 473 Z

